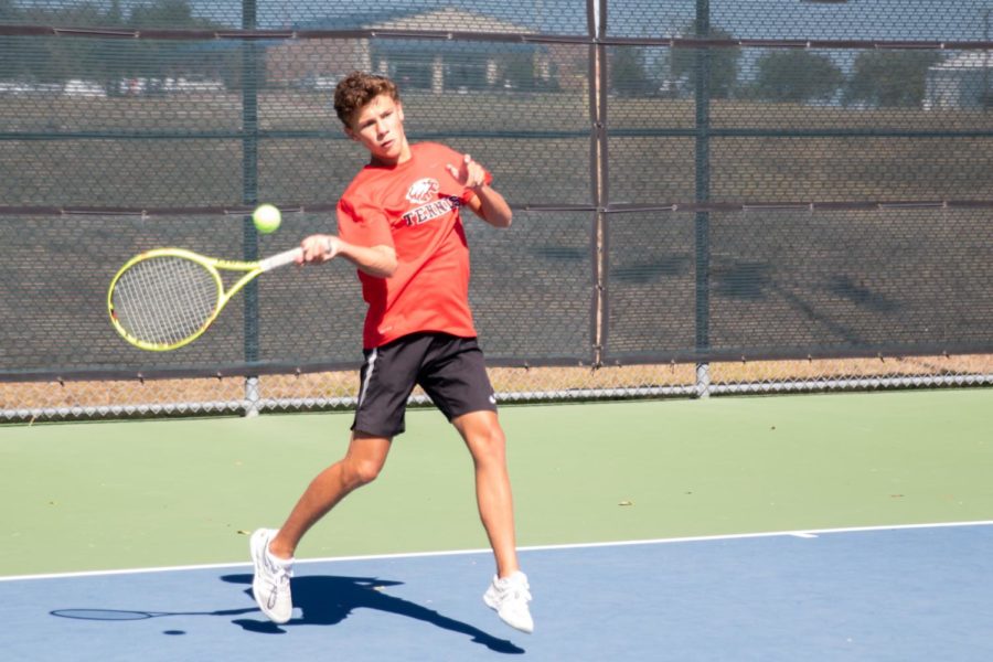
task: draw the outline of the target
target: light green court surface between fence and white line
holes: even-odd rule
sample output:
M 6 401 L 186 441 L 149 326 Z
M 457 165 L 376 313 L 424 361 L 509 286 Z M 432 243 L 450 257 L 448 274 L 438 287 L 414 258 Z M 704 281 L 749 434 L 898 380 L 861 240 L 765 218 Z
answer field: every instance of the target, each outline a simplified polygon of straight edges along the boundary
M 504 406 L 522 547 L 993 520 L 993 389 Z M 0 427 L 0 575 L 246 563 L 350 413 Z M 472 468 L 410 410 L 300 558 L 478 549 Z

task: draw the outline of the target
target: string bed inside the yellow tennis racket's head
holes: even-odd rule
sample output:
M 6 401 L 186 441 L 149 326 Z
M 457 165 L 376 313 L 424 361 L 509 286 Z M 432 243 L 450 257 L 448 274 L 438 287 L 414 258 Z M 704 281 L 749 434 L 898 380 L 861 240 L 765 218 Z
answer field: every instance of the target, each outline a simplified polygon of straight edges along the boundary
M 218 285 L 201 264 L 158 256 L 120 275 L 111 302 L 118 323 L 138 340 L 171 345 L 197 333 L 217 307 Z

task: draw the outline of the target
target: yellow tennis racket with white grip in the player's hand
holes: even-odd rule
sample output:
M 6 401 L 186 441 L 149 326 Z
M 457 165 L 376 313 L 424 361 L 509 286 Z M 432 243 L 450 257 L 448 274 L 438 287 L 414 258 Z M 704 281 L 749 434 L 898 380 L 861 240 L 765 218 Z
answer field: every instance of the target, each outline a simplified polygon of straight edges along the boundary
M 254 278 L 292 264 L 301 255 L 300 248 L 293 248 L 260 261 L 235 261 L 182 248 L 147 250 L 128 260 L 110 281 L 110 323 L 136 348 L 153 352 L 179 349 L 200 338 Z M 244 275 L 225 290 L 221 270 Z

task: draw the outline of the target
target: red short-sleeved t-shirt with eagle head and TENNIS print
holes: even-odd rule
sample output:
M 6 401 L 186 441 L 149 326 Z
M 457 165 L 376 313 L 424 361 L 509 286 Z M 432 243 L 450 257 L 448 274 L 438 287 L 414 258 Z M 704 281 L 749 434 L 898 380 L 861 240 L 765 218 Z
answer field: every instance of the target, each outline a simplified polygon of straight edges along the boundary
M 469 245 L 459 215 L 474 193 L 446 168 L 458 168 L 462 154 L 433 142 L 412 145 L 410 152 L 397 166 L 363 168 L 338 203 L 342 239 L 396 250 L 389 278 L 359 271 L 369 303 L 365 349 L 419 331 L 477 334 L 469 310 Z

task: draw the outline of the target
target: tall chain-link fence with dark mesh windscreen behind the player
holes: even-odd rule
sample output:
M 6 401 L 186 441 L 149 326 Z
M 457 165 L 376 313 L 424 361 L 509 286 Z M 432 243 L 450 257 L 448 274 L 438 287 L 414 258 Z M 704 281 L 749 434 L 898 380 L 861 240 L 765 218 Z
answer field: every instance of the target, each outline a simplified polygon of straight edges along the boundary
M 515 210 L 467 223 L 503 402 L 989 385 L 990 13 L 0 2 L 0 418 L 353 406 L 343 264 L 264 277 L 170 353 L 117 338 L 106 288 L 153 247 L 257 259 L 333 232 L 354 68 Z

